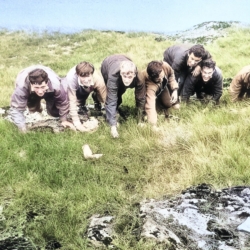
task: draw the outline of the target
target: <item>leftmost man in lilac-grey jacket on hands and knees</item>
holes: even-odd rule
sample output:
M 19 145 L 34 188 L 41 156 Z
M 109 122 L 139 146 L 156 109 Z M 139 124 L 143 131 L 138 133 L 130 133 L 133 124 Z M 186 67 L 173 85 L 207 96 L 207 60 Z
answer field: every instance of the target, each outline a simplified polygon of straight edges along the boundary
M 41 99 L 46 102 L 49 115 L 60 117 L 64 127 L 75 130 L 67 121 L 69 101 L 60 77 L 50 68 L 34 65 L 23 69 L 15 80 L 15 90 L 11 96 L 10 116 L 20 131 L 26 132 L 23 112 L 28 107 L 30 112 L 42 112 Z

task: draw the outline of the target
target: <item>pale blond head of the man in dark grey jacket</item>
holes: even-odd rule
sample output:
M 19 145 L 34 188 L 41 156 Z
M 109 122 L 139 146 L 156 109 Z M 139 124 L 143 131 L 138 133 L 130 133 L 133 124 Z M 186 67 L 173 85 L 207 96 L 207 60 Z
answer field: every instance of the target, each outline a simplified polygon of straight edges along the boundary
M 136 76 L 136 66 L 131 61 L 122 61 L 120 64 L 120 75 L 125 86 L 129 86 Z

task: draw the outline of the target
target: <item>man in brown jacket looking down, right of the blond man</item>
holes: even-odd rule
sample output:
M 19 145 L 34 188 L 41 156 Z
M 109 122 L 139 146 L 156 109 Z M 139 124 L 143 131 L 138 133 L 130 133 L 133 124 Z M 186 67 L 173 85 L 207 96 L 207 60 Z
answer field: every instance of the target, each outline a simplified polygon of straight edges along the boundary
M 152 61 L 143 71 L 146 84 L 146 104 L 148 122 L 157 124 L 157 109 L 163 109 L 167 118 L 169 108 L 179 109 L 178 83 L 175 80 L 174 70 L 168 63 Z

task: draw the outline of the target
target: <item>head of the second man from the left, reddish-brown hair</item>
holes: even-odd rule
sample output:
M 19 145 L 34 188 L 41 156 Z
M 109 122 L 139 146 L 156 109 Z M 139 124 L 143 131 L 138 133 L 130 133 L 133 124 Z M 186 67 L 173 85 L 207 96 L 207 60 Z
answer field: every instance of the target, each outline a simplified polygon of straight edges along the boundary
M 76 66 L 76 74 L 83 87 L 88 88 L 91 85 L 94 85 L 94 79 L 93 79 L 94 71 L 95 71 L 94 66 L 89 62 L 85 61 L 80 62 Z

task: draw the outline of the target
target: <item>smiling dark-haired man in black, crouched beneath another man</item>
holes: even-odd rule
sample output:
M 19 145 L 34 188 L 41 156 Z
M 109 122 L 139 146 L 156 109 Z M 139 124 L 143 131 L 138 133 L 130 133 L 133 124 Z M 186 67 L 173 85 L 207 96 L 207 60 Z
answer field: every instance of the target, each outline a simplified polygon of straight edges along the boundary
M 215 65 L 216 63 L 212 59 L 201 62 L 201 74 L 194 84 L 188 85 L 186 89 L 187 100 L 196 92 L 198 99 L 206 100 L 206 97 L 210 96 L 210 100 L 215 104 L 219 104 L 223 90 L 223 77 L 221 70 Z

